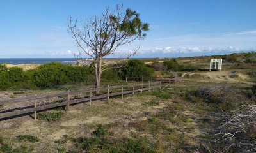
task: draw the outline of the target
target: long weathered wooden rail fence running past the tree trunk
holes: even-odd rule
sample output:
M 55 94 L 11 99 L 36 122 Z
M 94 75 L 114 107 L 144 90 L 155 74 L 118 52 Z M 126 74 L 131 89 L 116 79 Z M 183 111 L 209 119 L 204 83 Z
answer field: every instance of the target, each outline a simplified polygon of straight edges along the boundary
M 51 108 L 56 108 L 60 106 L 65 106 L 65 110 L 69 109 L 69 106 L 72 104 L 77 103 L 83 103 L 83 102 L 89 102 L 91 105 L 91 102 L 96 99 L 104 99 L 106 98 L 107 101 L 110 96 L 122 96 L 122 99 L 124 98 L 124 94 L 134 94 L 134 92 L 143 92 L 143 91 L 150 91 L 152 89 L 157 89 L 162 87 L 163 84 L 169 84 L 168 81 L 163 81 L 162 79 L 157 82 L 148 82 L 148 83 L 141 83 L 141 84 L 133 84 L 133 85 L 117 85 L 117 86 L 109 86 L 108 87 L 100 87 L 100 88 L 94 88 L 94 89 L 87 89 L 87 90 L 79 90 L 79 91 L 65 91 L 60 92 L 57 94 L 47 94 L 47 95 L 40 95 L 40 96 L 28 96 L 24 98 L 15 98 L 15 99 L 8 99 L 8 100 L 2 100 L 0 101 L 0 105 L 7 105 L 12 103 L 22 103 L 27 101 L 34 101 L 35 105 L 28 106 L 24 108 L 17 108 L 13 110 L 4 110 L 0 112 L 0 120 L 12 118 L 12 117 L 19 117 L 20 115 L 27 115 L 31 113 L 35 113 L 35 119 L 36 119 L 36 113 L 38 111 L 42 110 L 49 110 Z M 121 89 L 117 92 L 110 92 L 111 89 Z M 125 89 L 125 90 L 124 90 Z M 132 89 L 132 90 L 131 90 Z M 92 92 L 95 91 L 107 91 L 104 94 L 100 95 L 93 95 Z M 81 94 L 81 93 L 89 93 L 89 96 L 86 96 L 84 98 L 71 98 L 72 95 L 75 94 Z M 47 103 L 45 105 L 38 105 L 38 99 L 45 99 L 45 98 L 54 98 L 54 97 L 63 97 L 65 96 L 65 101 L 59 102 L 59 103 Z

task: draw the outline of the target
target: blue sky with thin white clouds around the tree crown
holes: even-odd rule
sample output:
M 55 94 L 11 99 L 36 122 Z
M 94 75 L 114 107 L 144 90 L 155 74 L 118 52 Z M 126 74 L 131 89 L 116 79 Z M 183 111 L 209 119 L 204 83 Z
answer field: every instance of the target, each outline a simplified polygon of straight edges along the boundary
M 74 57 L 70 17 L 101 15 L 123 4 L 150 24 L 135 57 L 184 57 L 256 50 L 255 0 L 57 1 L 0 0 L 0 58 Z

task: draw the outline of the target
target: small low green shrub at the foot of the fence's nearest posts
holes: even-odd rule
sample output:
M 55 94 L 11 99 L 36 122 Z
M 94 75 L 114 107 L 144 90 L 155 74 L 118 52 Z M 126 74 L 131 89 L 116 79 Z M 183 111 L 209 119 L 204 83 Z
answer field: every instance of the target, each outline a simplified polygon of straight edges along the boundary
M 44 112 L 38 113 L 37 119 L 38 120 L 48 120 L 49 122 L 54 122 L 60 120 L 63 116 L 63 112 L 61 111 L 54 111 L 54 112 Z

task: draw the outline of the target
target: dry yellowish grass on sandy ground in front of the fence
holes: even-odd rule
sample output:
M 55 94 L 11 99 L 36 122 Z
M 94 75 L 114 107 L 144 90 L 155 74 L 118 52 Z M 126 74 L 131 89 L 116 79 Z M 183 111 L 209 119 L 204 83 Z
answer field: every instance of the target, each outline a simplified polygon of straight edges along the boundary
M 60 147 L 76 149 L 72 142 L 58 145 L 54 143 L 63 135 L 72 138 L 90 137 L 99 124 L 104 124 L 108 125 L 109 133 L 113 133 L 115 138 L 147 136 L 153 138 L 155 143 L 157 140 L 161 141 L 161 145 L 167 150 L 173 150 L 173 147 L 180 150 L 179 145 L 195 144 L 193 137 L 199 132 L 195 128 L 195 121 L 190 118 L 191 112 L 184 108 L 185 103 L 178 104 L 173 101 L 173 98 L 159 99 L 145 93 L 128 96 L 123 101 L 120 98 L 111 98 L 108 102 L 93 101 L 92 106 L 87 103 L 73 105 L 56 122 L 35 121 L 28 116 L 4 120 L 0 122 L 1 136 L 14 147 L 22 144 L 17 142 L 18 135 L 37 136 L 40 142 L 33 143 L 36 152 L 56 152 Z M 177 142 L 177 138 L 182 140 L 182 144 Z M 27 145 L 30 146 L 29 143 Z

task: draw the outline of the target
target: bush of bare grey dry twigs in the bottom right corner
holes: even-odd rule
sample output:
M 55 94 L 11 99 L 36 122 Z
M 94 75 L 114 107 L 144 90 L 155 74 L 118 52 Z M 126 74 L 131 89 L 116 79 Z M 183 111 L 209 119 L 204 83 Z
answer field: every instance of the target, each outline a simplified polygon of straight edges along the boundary
M 200 152 L 255 152 L 255 105 L 242 105 L 222 112 L 218 133 L 200 145 Z

